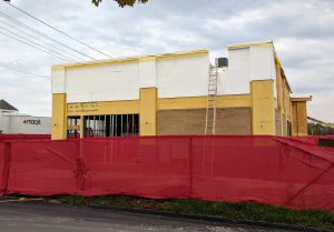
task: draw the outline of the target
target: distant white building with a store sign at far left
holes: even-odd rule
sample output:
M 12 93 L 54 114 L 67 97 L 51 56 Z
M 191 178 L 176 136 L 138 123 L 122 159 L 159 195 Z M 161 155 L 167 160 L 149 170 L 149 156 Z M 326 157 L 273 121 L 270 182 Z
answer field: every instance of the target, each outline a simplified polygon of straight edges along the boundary
M 0 100 L 0 134 L 50 134 L 51 118 L 20 114 L 19 110 Z

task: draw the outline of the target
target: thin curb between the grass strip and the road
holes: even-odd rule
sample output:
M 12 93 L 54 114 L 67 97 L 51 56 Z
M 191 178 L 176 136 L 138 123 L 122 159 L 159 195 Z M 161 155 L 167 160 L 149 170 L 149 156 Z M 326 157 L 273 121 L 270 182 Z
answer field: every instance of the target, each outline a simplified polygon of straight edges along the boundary
M 305 231 L 305 232 L 331 232 L 328 230 L 314 229 L 314 228 L 307 228 L 307 226 L 298 226 L 298 225 L 289 225 L 289 224 L 283 224 L 283 223 L 234 221 L 234 220 L 217 218 L 217 216 L 200 216 L 200 215 L 174 213 L 174 212 L 166 212 L 166 211 L 138 209 L 138 208 L 101 206 L 101 205 L 94 205 L 94 204 L 89 205 L 88 208 L 97 209 L 97 210 L 119 211 L 119 212 L 138 213 L 138 214 L 147 214 L 147 215 L 167 216 L 167 218 L 175 218 L 175 219 L 188 219 L 188 220 L 197 220 L 197 221 L 205 221 L 205 222 L 217 222 L 217 223 L 224 223 L 224 224 L 229 224 L 229 225 L 259 226 L 259 228 L 267 228 L 267 229 Z

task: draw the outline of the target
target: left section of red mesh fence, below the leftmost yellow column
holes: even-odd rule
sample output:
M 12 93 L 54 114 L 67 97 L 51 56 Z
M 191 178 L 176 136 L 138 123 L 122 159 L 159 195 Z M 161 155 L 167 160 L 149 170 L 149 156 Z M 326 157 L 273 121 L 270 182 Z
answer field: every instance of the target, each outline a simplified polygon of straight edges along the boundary
M 77 141 L 13 141 L 7 194 L 78 194 Z

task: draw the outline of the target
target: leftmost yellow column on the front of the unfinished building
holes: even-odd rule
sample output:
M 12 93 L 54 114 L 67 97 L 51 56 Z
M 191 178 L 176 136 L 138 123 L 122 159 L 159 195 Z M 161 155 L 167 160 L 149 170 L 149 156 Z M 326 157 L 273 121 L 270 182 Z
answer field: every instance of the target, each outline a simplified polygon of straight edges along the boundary
M 66 117 L 66 93 L 52 94 L 52 127 L 51 139 L 66 139 L 67 117 Z

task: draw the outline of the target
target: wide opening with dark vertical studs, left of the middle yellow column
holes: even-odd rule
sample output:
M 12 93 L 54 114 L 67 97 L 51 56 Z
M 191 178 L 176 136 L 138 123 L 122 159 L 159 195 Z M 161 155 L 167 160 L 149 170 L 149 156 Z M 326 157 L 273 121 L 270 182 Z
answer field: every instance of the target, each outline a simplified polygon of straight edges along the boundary
M 139 135 L 139 114 L 85 117 L 85 138 L 136 135 Z

